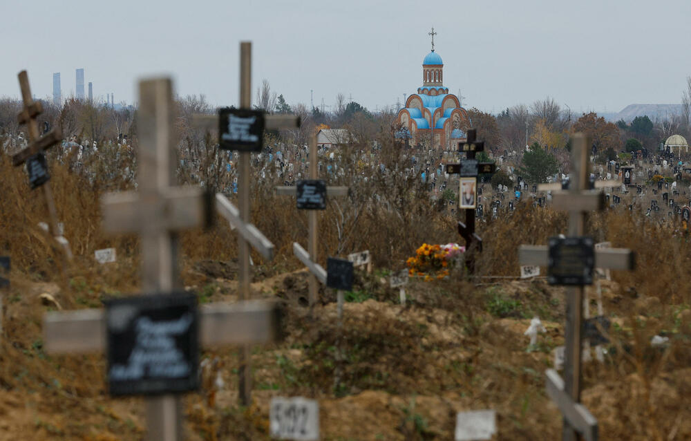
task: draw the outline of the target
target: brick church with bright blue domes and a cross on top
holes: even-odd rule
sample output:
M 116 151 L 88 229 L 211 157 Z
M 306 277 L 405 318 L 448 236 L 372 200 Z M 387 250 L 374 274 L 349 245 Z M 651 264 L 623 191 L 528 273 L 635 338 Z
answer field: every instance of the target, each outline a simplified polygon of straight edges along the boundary
M 464 129 L 471 126 L 466 109 L 453 93 L 444 87 L 444 63 L 434 50 L 422 62 L 422 87 L 417 88 L 399 110 L 395 124 L 410 138 L 411 144 L 432 145 L 433 149 L 455 150 L 466 139 Z

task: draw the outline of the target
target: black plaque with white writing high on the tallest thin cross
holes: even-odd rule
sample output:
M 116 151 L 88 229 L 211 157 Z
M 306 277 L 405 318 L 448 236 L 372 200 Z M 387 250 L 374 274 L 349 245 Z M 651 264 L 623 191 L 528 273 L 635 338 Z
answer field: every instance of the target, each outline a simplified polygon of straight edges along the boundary
M 247 109 L 218 111 L 220 148 L 236 151 L 261 151 L 264 143 L 264 113 Z

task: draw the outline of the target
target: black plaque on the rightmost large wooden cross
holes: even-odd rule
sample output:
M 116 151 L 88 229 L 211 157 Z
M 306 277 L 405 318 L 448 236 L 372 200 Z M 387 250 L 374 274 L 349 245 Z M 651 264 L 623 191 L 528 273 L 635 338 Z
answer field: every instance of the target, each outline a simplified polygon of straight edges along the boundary
M 592 238 L 549 238 L 547 281 L 550 285 L 591 285 L 594 265 Z

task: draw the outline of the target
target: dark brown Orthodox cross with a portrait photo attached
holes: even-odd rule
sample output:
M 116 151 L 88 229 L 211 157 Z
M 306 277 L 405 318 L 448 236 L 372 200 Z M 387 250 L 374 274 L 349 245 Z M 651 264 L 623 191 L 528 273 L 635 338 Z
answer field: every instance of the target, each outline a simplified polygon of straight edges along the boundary
M 484 141 L 476 140 L 477 132 L 475 129 L 469 129 L 466 141 L 458 143 L 458 151 L 466 153 L 466 160 L 461 160 L 458 164 L 446 164 L 446 173 L 458 174 L 461 178 L 471 178 L 475 180 L 475 193 L 473 194 L 474 203 L 472 208 L 464 209 L 466 212 L 465 223 L 458 221 L 458 234 L 460 234 L 466 241 L 466 263 L 468 265 L 468 272 L 473 274 L 475 272 L 475 257 L 473 253 L 482 252 L 482 238 L 475 234 L 475 216 L 477 207 L 477 175 L 478 174 L 492 174 L 496 171 L 494 162 L 477 162 L 475 160 L 475 153 L 484 151 Z M 461 179 L 461 182 L 463 179 Z M 462 200 L 462 189 L 459 187 L 458 200 L 459 206 Z M 475 247 L 475 248 L 473 248 Z

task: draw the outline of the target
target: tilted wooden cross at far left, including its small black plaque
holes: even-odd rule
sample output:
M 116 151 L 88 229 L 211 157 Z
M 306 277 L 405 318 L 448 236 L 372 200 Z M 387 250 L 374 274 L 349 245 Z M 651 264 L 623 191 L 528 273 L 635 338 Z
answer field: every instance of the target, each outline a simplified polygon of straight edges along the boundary
M 40 101 L 34 101 L 31 96 L 29 77 L 26 71 L 21 71 L 18 77 L 24 107 L 17 115 L 17 120 L 19 120 L 19 124 L 26 124 L 29 144 L 25 149 L 12 155 L 12 165 L 17 167 L 26 162 L 31 188 L 43 187 L 44 199 L 48 208 L 48 218 L 50 218 L 50 235 L 62 247 L 66 259 L 70 260 L 72 259 L 70 245 L 60 234 L 57 226 L 57 210 L 55 209 L 53 191 L 50 189 L 50 182 L 48 182 L 50 176 L 48 176 L 48 165 L 46 165 L 46 155 L 44 153 L 45 150 L 50 149 L 55 144 L 59 144 L 62 140 L 62 133 L 60 128 L 56 126 L 45 135 L 39 135 L 39 123 L 36 117 L 43 113 L 43 106 Z

